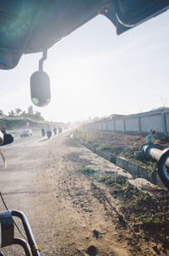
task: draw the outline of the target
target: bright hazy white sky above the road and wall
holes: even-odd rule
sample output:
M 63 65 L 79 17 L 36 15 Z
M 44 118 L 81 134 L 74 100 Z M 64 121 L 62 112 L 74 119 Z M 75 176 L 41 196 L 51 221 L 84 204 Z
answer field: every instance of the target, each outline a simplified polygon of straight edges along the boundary
M 169 12 L 121 36 L 99 15 L 48 51 L 44 70 L 52 101 L 34 107 L 46 120 L 87 120 L 109 114 L 134 114 L 169 106 Z M 41 53 L 24 55 L 14 70 L 0 70 L 1 105 L 30 106 L 30 75 Z

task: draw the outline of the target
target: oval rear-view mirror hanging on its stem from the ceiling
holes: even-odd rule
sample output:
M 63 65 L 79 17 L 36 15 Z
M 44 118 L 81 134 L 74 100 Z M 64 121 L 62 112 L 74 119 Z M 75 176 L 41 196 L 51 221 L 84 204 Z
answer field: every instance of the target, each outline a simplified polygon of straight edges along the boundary
M 51 100 L 51 89 L 49 75 L 43 71 L 43 63 L 47 58 L 47 50 L 39 61 L 39 70 L 30 77 L 30 97 L 32 103 L 37 107 L 45 107 Z

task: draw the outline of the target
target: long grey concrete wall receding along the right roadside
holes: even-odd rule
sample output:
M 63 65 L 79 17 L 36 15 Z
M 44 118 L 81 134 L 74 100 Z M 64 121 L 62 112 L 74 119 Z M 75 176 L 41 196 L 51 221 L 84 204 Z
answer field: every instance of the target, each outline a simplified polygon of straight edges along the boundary
M 123 116 L 110 116 L 85 125 L 86 129 L 103 131 L 150 132 L 155 129 L 169 135 L 169 108 Z

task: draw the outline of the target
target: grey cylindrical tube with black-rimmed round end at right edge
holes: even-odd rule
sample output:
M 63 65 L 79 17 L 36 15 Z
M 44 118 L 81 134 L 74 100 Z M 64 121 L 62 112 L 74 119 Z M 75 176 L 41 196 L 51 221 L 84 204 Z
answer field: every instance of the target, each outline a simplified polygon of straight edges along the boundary
M 139 149 L 158 162 L 158 173 L 163 184 L 169 189 L 169 148 L 160 150 L 153 143 L 144 143 Z

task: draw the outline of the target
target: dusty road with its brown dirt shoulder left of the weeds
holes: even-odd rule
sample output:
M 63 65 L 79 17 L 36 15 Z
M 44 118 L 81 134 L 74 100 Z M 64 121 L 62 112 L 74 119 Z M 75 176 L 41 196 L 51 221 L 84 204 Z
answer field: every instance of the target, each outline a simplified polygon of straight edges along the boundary
M 18 138 L 3 147 L 8 166 L 1 162 L 1 192 L 8 209 L 25 212 L 41 255 L 158 255 L 155 242 L 124 220 L 110 188 L 82 170 L 90 164 L 101 173 L 128 174 L 70 135 Z M 16 246 L 3 252 L 24 255 Z

